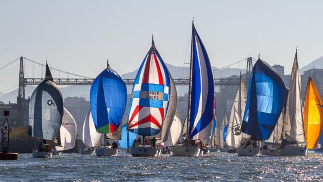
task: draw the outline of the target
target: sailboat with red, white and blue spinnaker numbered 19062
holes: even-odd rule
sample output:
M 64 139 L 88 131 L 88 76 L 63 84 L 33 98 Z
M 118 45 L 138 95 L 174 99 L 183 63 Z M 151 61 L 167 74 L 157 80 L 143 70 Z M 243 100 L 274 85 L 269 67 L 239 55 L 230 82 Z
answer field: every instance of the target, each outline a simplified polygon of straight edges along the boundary
M 151 48 L 142 61 L 133 84 L 127 125 L 130 132 L 143 136 L 143 144 L 145 137 L 162 131 L 167 112 L 175 113 L 168 111 L 172 92 L 170 79 L 169 71 L 152 37 Z M 133 147 L 131 155 L 157 156 L 159 150 L 143 145 Z

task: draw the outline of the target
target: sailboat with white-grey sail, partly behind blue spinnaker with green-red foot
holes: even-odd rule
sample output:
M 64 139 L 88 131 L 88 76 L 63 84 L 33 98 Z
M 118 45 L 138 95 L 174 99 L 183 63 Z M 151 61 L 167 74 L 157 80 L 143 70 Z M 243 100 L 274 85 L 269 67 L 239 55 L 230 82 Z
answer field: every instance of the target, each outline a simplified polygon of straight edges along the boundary
M 87 146 L 80 150 L 81 154 L 92 155 L 94 154 L 94 147 L 97 147 L 100 143 L 101 134 L 95 129 L 91 109 L 85 117 L 83 130 L 82 130 L 82 141 Z

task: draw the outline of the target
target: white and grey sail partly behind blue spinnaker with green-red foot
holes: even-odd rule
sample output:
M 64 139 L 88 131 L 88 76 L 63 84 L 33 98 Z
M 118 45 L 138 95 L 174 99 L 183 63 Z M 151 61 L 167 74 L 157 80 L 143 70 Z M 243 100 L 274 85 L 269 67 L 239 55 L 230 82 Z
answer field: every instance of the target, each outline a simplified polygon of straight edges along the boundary
M 91 110 L 89 110 L 83 124 L 82 140 L 85 145 L 89 147 L 95 147 L 99 144 L 100 138 L 101 138 L 101 134 L 98 133 L 97 130 L 95 129 L 92 113 L 91 113 Z

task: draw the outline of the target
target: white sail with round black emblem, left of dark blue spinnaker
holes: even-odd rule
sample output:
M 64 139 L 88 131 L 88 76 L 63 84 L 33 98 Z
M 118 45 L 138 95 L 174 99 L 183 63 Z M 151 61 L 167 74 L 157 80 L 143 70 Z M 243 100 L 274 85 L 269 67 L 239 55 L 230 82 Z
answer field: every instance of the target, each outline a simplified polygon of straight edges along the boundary
M 242 140 L 241 133 L 241 118 L 239 113 L 234 108 L 234 116 L 232 122 L 229 123 L 228 131 L 226 134 L 225 143 L 231 147 L 237 148 L 239 147 Z

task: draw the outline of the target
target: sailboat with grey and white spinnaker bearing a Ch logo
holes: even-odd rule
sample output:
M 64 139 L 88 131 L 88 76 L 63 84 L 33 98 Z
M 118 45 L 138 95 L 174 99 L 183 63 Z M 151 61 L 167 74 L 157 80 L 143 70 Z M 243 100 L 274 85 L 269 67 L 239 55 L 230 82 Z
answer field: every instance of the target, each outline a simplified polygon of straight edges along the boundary
M 46 63 L 46 76 L 29 100 L 28 134 L 43 139 L 33 157 L 52 157 L 50 146 L 60 146 L 55 140 L 62 124 L 63 97 Z M 60 139 L 60 138 L 58 138 Z

